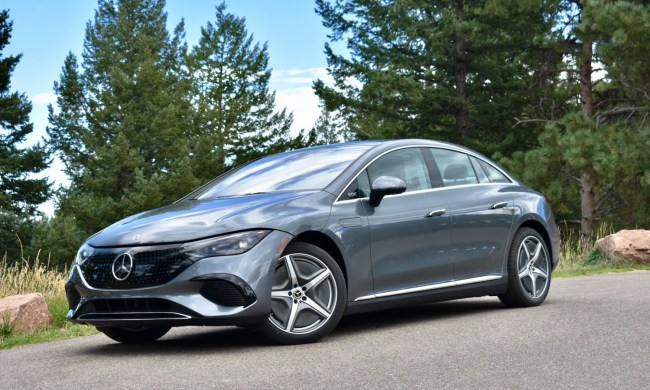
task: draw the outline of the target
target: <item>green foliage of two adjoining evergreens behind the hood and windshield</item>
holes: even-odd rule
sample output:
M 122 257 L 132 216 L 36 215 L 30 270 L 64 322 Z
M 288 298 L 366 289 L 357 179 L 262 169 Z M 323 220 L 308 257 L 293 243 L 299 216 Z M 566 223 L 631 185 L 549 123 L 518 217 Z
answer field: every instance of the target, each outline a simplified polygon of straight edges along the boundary
M 167 31 L 164 0 L 100 0 L 79 62 L 66 58 L 50 148 L 71 180 L 37 243 L 69 264 L 88 235 L 169 204 L 233 165 L 301 147 L 269 92 L 266 45 L 216 7 L 188 54 L 183 23 Z M 49 246 L 52 243 L 57 246 Z

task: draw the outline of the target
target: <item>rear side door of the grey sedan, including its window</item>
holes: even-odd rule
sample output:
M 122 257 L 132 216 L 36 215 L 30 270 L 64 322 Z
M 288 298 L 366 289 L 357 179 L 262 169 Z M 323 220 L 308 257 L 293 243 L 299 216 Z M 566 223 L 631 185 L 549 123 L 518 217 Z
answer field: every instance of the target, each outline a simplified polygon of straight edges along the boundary
M 452 223 L 454 280 L 502 275 L 514 220 L 510 180 L 465 153 L 429 150 L 448 199 L 445 207 Z

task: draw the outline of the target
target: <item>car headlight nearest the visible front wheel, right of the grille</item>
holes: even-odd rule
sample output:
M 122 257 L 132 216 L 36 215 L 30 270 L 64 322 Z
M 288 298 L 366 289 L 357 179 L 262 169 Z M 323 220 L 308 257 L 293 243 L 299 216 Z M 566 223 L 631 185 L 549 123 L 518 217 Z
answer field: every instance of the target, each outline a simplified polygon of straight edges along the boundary
M 187 243 L 180 250 L 193 260 L 204 257 L 239 255 L 253 248 L 270 232 L 270 230 L 251 230 L 208 238 Z

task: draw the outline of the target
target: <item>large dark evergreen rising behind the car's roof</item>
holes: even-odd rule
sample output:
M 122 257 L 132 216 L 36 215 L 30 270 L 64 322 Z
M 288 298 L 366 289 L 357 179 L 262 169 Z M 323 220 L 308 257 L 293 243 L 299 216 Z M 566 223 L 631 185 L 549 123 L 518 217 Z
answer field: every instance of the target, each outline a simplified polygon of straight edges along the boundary
M 539 100 L 531 68 L 543 58 L 554 12 L 547 3 L 317 0 L 330 39 L 347 53 L 326 44 L 335 84 L 319 80 L 314 89 L 360 138 L 525 149 L 534 127 L 508 135 Z

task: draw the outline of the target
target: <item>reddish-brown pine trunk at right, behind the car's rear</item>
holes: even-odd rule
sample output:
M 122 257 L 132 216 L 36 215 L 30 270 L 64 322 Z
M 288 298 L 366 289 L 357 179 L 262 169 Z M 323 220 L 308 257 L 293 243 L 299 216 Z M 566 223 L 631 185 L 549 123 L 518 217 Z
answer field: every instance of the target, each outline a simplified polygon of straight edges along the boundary
M 582 59 L 580 61 L 580 101 L 582 113 L 591 120 L 594 116 L 594 103 L 592 99 L 591 60 L 593 42 L 585 40 L 582 43 Z M 596 204 L 594 202 L 594 178 L 591 174 L 583 172 L 580 176 L 580 240 L 583 252 L 591 250 L 591 231 L 596 220 Z

